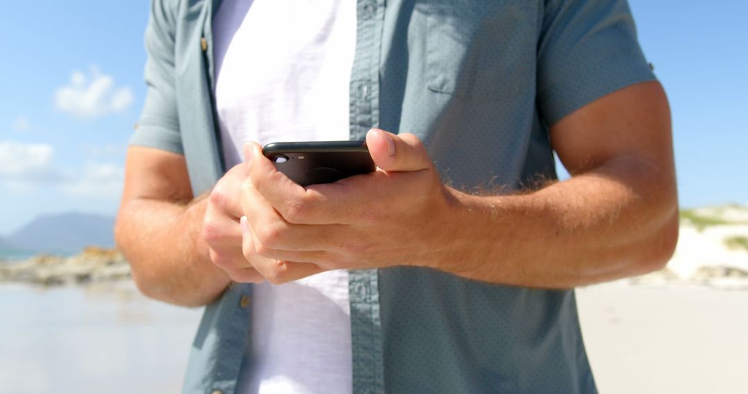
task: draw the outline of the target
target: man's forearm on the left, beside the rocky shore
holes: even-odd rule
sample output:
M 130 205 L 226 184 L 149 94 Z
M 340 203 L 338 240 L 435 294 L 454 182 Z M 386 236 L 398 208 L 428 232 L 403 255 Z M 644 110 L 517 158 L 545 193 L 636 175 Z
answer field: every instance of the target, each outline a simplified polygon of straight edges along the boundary
M 206 198 L 186 205 L 134 198 L 120 208 L 117 245 L 145 295 L 200 306 L 227 287 L 230 279 L 211 263 L 200 237 L 205 210 Z

